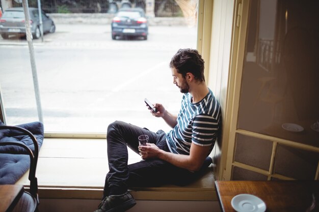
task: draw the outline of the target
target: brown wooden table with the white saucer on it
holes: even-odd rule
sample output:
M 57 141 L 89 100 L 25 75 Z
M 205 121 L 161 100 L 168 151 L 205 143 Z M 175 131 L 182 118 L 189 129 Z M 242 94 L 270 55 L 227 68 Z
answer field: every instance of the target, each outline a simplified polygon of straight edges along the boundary
M 235 211 L 231 199 L 238 194 L 252 194 L 262 199 L 266 211 L 319 211 L 319 180 L 299 181 L 215 181 L 221 209 Z M 315 201 L 312 210 L 311 205 Z

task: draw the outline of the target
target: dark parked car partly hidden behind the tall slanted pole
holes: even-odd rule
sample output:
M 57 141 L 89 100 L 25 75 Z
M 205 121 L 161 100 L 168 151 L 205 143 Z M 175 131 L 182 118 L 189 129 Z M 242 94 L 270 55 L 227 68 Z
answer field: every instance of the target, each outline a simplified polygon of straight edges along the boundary
M 34 39 L 41 36 L 40 20 L 38 8 L 29 8 L 31 31 Z M 42 12 L 43 33 L 54 33 L 56 25 L 44 11 Z M 0 34 L 4 39 L 9 38 L 9 35 L 25 36 L 24 13 L 22 7 L 9 8 L 0 18 Z

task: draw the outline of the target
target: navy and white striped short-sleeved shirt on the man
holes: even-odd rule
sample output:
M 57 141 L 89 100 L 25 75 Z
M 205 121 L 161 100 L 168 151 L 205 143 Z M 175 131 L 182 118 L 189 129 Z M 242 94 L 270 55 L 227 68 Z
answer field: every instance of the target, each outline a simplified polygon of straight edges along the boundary
M 214 94 L 209 93 L 200 102 L 193 104 L 192 95 L 184 94 L 177 125 L 166 135 L 170 152 L 190 155 L 192 142 L 200 146 L 214 147 L 220 123 L 220 105 Z

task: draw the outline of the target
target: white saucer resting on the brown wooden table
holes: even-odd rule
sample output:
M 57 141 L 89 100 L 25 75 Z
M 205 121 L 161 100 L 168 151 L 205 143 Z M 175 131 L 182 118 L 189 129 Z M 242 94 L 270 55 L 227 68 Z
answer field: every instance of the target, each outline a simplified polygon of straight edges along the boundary
M 231 199 L 231 206 L 238 212 L 264 212 L 266 204 L 251 194 L 238 194 Z

